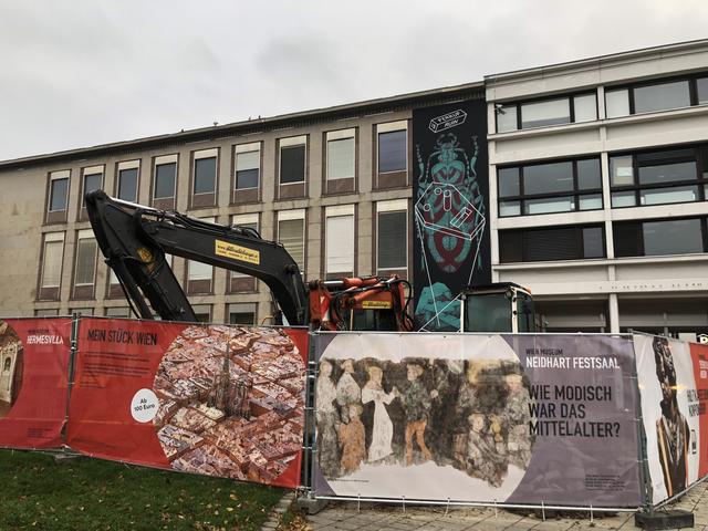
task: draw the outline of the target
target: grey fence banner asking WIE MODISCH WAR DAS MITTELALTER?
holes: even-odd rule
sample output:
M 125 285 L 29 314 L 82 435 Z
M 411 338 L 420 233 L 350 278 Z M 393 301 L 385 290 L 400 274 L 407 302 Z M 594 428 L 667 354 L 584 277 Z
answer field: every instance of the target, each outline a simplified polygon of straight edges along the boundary
M 314 341 L 319 496 L 641 503 L 628 337 Z

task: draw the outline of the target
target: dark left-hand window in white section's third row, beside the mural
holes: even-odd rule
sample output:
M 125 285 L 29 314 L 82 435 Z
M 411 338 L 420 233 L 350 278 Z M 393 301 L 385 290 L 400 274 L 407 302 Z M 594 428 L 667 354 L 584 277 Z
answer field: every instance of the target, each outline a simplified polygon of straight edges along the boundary
M 537 262 L 605 257 L 602 226 L 550 227 L 499 232 L 499 260 Z

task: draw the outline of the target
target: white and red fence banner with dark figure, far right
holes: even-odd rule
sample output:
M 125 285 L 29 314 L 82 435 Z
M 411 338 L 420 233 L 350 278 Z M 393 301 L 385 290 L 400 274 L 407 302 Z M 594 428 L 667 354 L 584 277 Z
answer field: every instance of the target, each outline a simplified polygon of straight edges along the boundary
M 708 473 L 708 346 L 635 335 L 650 501 Z

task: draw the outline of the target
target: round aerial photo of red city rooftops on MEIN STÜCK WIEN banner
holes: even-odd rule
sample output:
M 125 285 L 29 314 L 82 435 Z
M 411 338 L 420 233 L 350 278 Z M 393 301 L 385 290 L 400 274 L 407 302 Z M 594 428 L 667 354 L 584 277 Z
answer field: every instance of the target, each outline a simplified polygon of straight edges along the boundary
M 170 466 L 272 482 L 301 451 L 304 372 L 282 330 L 186 327 L 154 383 L 159 409 L 153 423 Z

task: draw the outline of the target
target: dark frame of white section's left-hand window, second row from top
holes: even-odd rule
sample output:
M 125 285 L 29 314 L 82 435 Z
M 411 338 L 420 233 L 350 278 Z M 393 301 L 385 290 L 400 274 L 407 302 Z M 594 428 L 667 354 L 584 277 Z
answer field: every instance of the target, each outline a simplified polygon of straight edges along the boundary
M 589 188 L 589 189 L 584 189 L 581 190 L 579 188 L 579 173 L 577 173 L 577 163 L 581 163 L 583 160 L 597 160 L 597 166 L 600 168 L 600 188 Z M 569 190 L 569 191 L 553 191 L 553 192 L 548 192 L 548 194 L 530 194 L 530 195 L 525 195 L 524 194 L 524 179 L 523 179 L 523 170 L 524 168 L 531 167 L 531 166 L 544 166 L 544 165 L 549 165 L 549 164 L 562 164 L 562 163 L 571 163 L 572 165 L 572 173 L 573 173 L 573 189 Z M 519 195 L 518 196 L 501 196 L 499 194 L 500 190 L 500 186 L 499 186 L 499 170 L 500 169 L 512 169 L 512 168 L 518 168 L 519 170 Z M 603 199 L 603 194 L 602 194 L 603 189 L 602 189 L 602 159 L 600 157 L 600 154 L 595 155 L 595 156 L 583 156 L 583 157 L 577 157 L 577 158 L 560 158 L 560 159 L 546 159 L 546 160 L 534 160 L 533 163 L 530 164 L 513 164 L 513 165 L 502 165 L 502 166 L 497 166 L 497 217 L 498 218 L 521 218 L 521 217 L 525 217 L 525 216 L 549 216 L 549 215 L 554 215 L 554 214 L 569 214 L 569 212 L 592 212 L 592 211 L 597 211 L 597 210 L 603 210 L 605 208 L 604 206 L 604 199 Z M 580 209 L 580 199 L 583 196 L 591 196 L 591 195 L 598 195 L 600 196 L 600 207 L 598 208 L 591 208 L 591 209 L 584 209 L 581 210 Z M 538 214 L 524 214 L 524 206 L 525 206 L 525 201 L 528 200 L 532 200 L 532 199 L 552 199 L 554 197 L 572 197 L 573 201 L 574 201 L 574 209 L 573 210 L 560 210 L 558 212 L 538 212 Z M 519 214 L 514 215 L 514 216 L 502 216 L 501 212 L 501 202 L 502 201 L 519 201 Z

